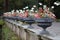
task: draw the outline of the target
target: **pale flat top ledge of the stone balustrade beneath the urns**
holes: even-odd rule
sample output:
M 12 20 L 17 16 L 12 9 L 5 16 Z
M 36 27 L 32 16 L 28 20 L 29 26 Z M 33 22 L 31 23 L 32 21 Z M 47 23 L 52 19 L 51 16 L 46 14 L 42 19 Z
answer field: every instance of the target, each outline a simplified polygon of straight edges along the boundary
M 30 32 L 36 34 L 37 36 L 47 38 L 48 40 L 49 39 L 50 40 L 55 39 L 53 36 L 50 36 L 50 35 L 41 35 L 40 32 L 41 32 L 42 29 L 40 27 L 38 27 L 38 29 L 37 29 L 37 27 L 34 27 L 34 28 L 31 29 L 31 28 L 28 28 L 28 26 L 29 26 L 28 24 L 22 25 L 22 24 L 20 24 L 19 22 L 15 21 L 15 20 L 17 20 L 17 19 L 11 20 L 9 18 L 5 18 L 5 21 L 7 21 L 9 23 L 12 23 L 12 24 L 14 24 L 14 25 L 16 25 L 20 28 L 23 28 L 24 30 L 27 30 L 28 32 L 30 31 Z M 45 39 L 43 39 L 43 40 L 45 40 Z

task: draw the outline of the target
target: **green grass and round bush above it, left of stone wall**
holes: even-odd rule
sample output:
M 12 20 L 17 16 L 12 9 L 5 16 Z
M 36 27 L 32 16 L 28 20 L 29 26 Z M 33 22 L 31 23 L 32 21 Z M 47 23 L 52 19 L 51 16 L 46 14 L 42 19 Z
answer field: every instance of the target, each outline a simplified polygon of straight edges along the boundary
M 4 24 L 5 22 L 0 19 L 0 25 L 2 25 L 2 40 L 20 40 L 20 38 Z

